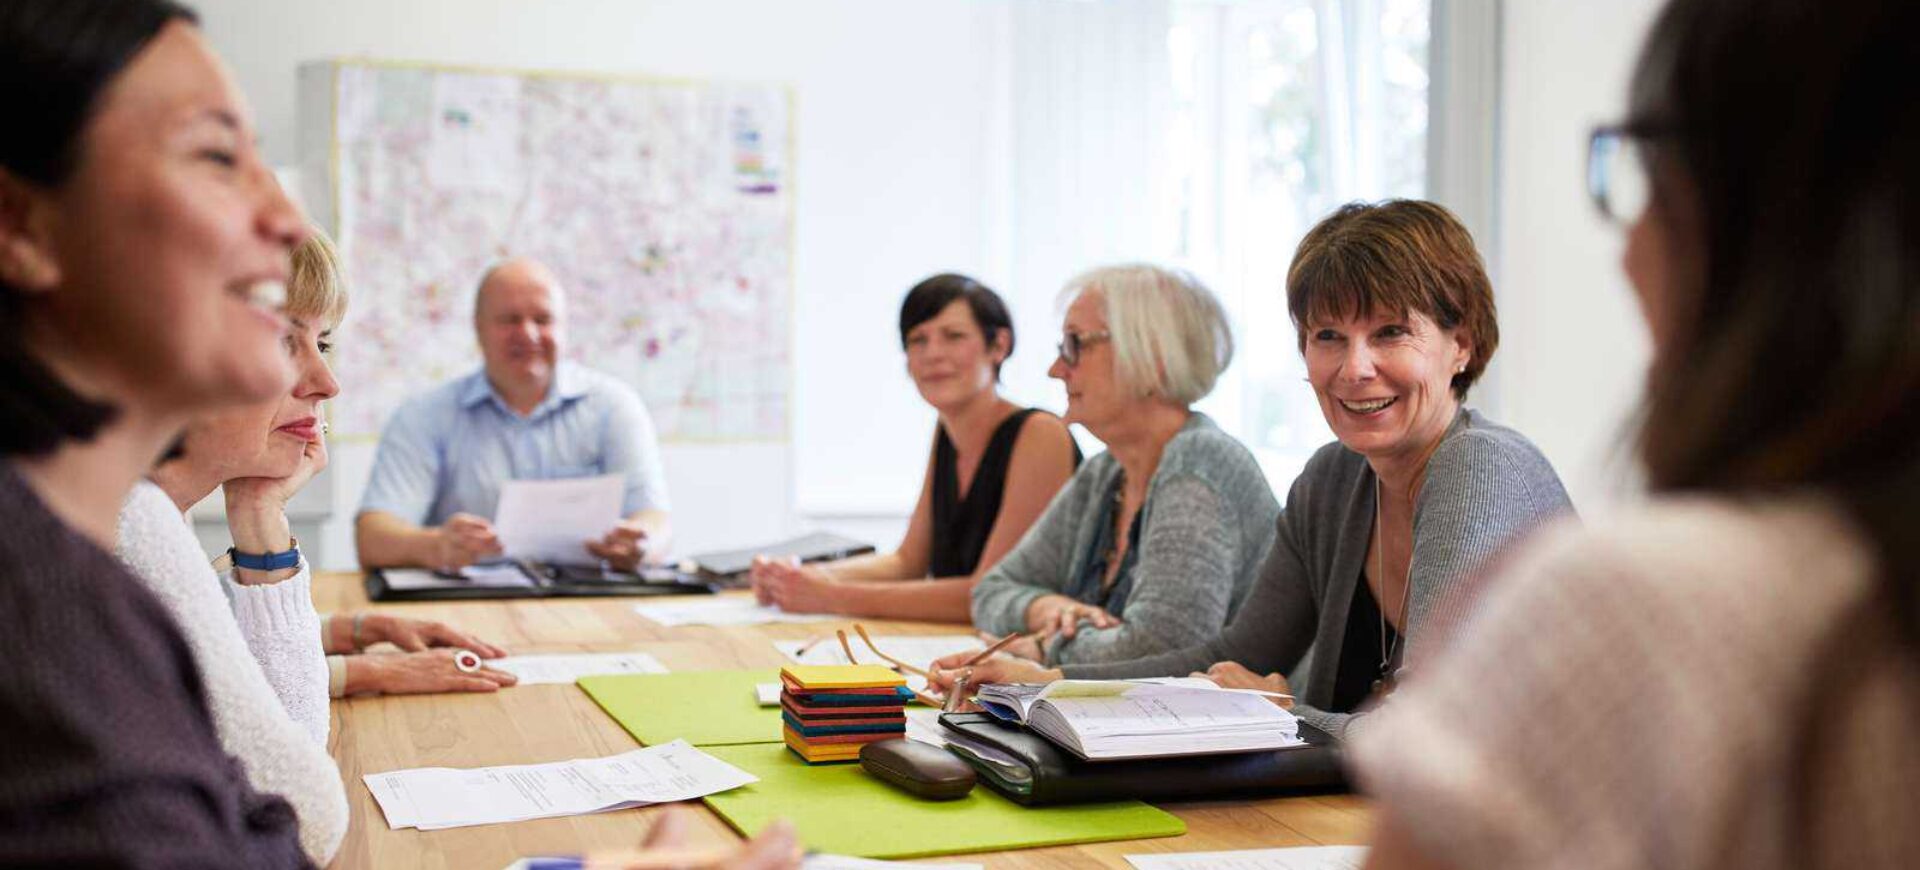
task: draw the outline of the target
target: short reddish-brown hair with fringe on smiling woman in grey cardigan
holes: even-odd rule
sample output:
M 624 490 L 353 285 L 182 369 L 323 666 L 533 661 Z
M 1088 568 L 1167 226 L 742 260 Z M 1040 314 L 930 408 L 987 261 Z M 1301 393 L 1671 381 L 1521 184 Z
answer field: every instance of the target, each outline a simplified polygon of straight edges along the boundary
M 1463 328 L 1473 342 L 1453 396 L 1486 373 L 1500 348 L 1494 284 L 1467 227 L 1425 200 L 1350 202 L 1308 230 L 1286 267 L 1286 313 L 1300 348 L 1308 323 L 1419 311 L 1440 328 Z

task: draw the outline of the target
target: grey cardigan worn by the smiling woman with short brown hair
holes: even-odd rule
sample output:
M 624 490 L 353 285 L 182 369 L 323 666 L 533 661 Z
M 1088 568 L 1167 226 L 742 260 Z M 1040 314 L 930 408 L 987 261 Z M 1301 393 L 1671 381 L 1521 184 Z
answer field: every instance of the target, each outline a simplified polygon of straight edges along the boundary
M 1559 474 L 1526 436 L 1463 409 L 1428 459 L 1413 505 L 1405 649 L 1396 655 L 1402 666 L 1417 666 L 1425 647 L 1465 616 L 1475 597 L 1469 580 L 1480 563 L 1571 511 Z M 1225 632 L 1164 655 L 1062 670 L 1087 680 L 1187 676 L 1236 661 L 1260 674 L 1290 674 L 1300 699 L 1294 713 L 1344 736 L 1356 716 L 1325 707 L 1371 536 L 1373 467 L 1338 442 L 1329 444 L 1294 478 L 1260 582 Z M 1302 666 L 1308 649 L 1313 655 Z

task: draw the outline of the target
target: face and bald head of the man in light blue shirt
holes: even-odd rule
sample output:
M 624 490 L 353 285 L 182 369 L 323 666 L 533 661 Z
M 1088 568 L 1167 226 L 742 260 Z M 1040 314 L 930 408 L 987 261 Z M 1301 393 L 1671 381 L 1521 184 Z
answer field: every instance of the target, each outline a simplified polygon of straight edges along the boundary
M 495 267 L 474 303 L 474 326 L 495 386 L 547 394 L 563 336 L 559 280 L 551 271 L 530 259 Z

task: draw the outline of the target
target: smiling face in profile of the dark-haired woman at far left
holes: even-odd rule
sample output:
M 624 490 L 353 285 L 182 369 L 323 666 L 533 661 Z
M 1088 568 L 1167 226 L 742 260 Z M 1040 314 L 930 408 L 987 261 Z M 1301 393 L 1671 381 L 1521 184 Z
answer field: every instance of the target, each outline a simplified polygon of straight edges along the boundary
M 29 209 L 48 269 L 15 286 L 36 355 L 75 386 L 165 415 L 286 390 L 278 300 L 305 219 L 194 27 L 167 25 L 102 92 L 73 175 Z

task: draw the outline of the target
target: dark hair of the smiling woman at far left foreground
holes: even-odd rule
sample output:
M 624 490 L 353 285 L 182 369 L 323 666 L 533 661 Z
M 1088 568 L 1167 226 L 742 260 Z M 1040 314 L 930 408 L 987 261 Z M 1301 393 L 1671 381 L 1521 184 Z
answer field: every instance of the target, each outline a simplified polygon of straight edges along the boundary
M 0 171 L 58 188 L 75 171 L 100 94 L 169 21 L 196 23 L 169 0 L 0 2 Z M 90 440 L 113 407 L 88 399 L 25 350 L 27 294 L 0 280 L 0 455 L 42 455 Z

